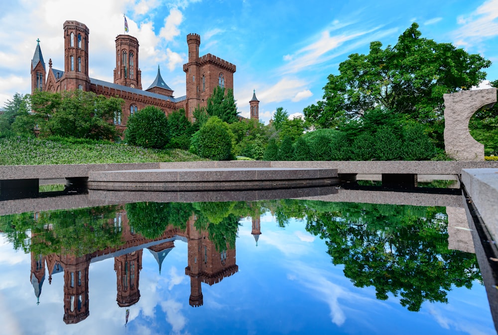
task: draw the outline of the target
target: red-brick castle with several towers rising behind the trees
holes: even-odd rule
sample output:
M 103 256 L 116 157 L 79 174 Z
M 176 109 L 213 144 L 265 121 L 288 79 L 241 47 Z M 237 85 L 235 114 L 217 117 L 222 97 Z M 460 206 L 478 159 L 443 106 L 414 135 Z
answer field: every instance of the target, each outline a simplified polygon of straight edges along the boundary
M 116 115 L 114 119 L 118 129 L 124 130 L 130 115 L 149 105 L 158 107 L 166 115 L 183 108 L 186 116 L 192 120 L 194 109 L 207 105 L 207 99 L 216 85 L 234 88 L 236 66 L 212 54 L 199 57 L 201 37 L 198 34 L 187 35 L 188 63 L 183 65 L 186 95 L 175 97 L 174 90 L 163 80 L 159 67 L 152 84 L 142 89 L 139 44 L 135 37 L 116 37 L 116 68 L 114 83 L 110 83 L 89 77 L 89 28 L 81 22 L 68 20 L 64 22 L 63 30 L 64 70 L 52 67 L 52 59 L 49 59 L 47 71 L 40 41 L 37 40 L 31 60 L 31 93 L 35 90 L 60 92 L 83 89 L 106 97 L 120 97 L 124 99 L 124 107 L 122 114 Z M 253 100 L 250 103 L 251 118 L 258 119 L 257 112 L 252 112 Z

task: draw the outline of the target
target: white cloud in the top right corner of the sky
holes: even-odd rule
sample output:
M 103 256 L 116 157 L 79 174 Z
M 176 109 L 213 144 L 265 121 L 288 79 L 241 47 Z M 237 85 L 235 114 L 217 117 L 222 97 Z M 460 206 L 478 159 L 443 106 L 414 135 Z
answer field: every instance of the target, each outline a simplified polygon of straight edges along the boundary
M 474 45 L 498 35 L 498 0 L 489 0 L 469 15 L 458 17 L 462 25 L 455 31 L 455 44 Z

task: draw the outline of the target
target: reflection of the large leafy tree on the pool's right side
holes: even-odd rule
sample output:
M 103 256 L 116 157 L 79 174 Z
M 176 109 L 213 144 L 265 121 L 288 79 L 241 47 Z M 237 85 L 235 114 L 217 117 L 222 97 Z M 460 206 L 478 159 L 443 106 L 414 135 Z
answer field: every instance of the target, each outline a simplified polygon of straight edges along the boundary
M 452 285 L 472 287 L 481 278 L 476 257 L 448 250 L 444 208 L 308 202 L 306 230 L 325 240 L 334 264 L 357 287 L 390 292 L 410 311 L 424 301 L 447 302 Z

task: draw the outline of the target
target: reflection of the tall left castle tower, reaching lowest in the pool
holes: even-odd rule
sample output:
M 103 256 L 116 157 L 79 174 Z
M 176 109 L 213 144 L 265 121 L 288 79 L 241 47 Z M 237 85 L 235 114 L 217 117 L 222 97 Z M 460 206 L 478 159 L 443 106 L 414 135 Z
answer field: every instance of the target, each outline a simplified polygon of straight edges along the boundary
M 88 270 L 90 255 L 61 255 L 64 268 L 64 322 L 77 324 L 90 315 L 88 302 Z

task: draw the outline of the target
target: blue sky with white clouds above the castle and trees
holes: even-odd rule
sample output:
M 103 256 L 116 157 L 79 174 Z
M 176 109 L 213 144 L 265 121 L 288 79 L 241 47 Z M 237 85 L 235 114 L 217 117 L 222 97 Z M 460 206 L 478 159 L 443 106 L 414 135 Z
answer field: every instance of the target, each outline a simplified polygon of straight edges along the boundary
M 368 53 L 371 41 L 395 44 L 412 22 L 422 36 L 451 42 L 494 64 L 498 79 L 498 0 L 65 0 L 2 3 L 0 11 L 0 106 L 15 92 L 30 91 L 29 66 L 40 39 L 48 67 L 63 69 L 62 25 L 77 20 L 90 29 L 90 77 L 113 81 L 115 38 L 124 32 L 140 45 L 142 85 L 157 66 L 175 96 L 185 94 L 186 35 L 201 35 L 200 54 L 212 53 L 237 65 L 234 95 L 249 116 L 252 90 L 265 123 L 276 107 L 289 114 L 322 98 L 329 74 L 351 53 Z

